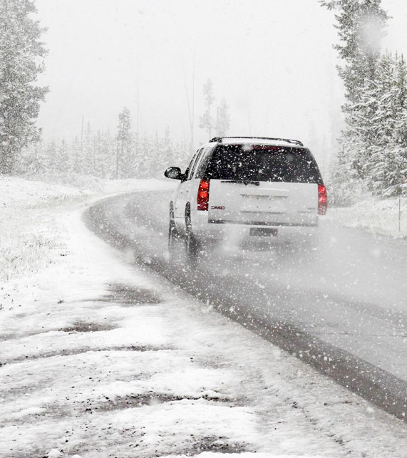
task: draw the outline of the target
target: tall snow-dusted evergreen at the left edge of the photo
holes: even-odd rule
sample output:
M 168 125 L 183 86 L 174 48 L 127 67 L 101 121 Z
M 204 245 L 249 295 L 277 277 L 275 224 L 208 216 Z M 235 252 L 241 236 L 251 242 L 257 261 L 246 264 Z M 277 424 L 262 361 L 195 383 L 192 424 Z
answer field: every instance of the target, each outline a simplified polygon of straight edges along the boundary
M 38 140 L 35 120 L 48 88 L 36 85 L 46 50 L 31 0 L 0 0 L 0 173 L 11 174 L 22 148 Z

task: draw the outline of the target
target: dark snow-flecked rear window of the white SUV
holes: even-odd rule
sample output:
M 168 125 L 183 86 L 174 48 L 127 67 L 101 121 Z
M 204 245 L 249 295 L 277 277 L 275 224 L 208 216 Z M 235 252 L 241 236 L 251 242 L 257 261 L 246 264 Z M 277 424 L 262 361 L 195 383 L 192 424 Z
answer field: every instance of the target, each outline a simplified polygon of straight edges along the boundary
M 321 183 L 309 150 L 271 145 L 218 145 L 204 175 L 207 179 Z

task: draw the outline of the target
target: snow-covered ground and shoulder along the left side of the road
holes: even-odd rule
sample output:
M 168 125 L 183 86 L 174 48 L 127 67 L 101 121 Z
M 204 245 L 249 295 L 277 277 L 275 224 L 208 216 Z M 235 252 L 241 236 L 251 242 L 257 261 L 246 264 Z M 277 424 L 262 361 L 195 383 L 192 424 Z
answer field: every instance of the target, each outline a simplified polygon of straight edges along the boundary
M 81 222 L 101 192 L 165 186 L 0 178 L 0 456 L 406 456 L 404 423 Z

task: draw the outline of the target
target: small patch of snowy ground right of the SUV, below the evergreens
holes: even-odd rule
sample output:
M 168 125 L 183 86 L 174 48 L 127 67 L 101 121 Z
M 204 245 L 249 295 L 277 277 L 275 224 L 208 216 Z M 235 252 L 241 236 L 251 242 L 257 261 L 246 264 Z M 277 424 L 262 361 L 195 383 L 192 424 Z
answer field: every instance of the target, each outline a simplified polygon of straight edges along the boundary
M 330 208 L 326 214 L 336 224 L 359 227 L 376 234 L 407 239 L 407 198 L 364 199 L 351 207 Z

